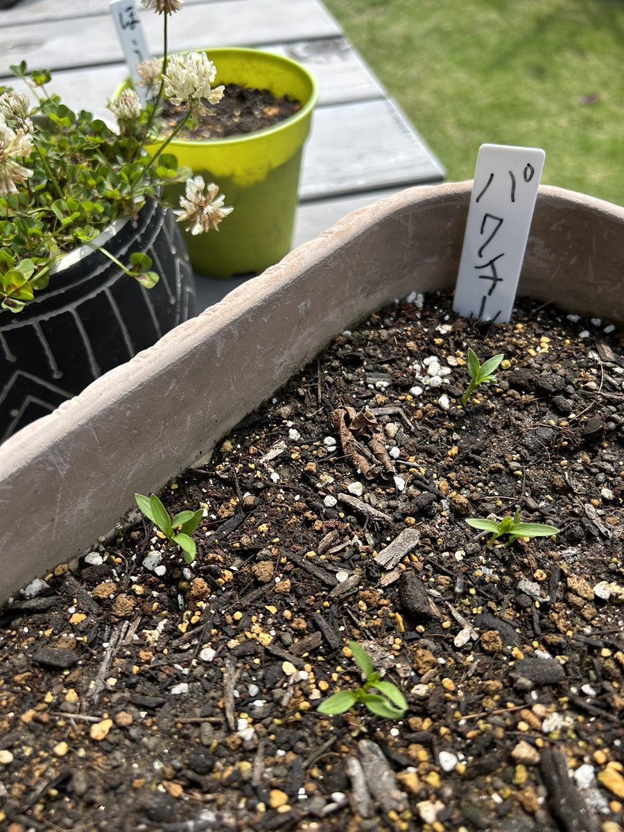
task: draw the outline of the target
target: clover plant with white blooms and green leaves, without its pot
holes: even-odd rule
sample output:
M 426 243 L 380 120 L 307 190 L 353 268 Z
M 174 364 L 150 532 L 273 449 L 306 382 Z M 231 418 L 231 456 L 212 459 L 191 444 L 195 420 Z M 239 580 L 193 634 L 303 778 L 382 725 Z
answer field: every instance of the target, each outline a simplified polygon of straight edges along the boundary
M 21 312 L 46 289 L 63 255 L 82 245 L 151 288 L 158 274 L 148 255 L 129 252 L 124 264 L 96 238 L 115 220 L 134 219 L 148 199 L 165 206 L 164 186 L 172 182 L 186 180 L 186 196 L 175 213 L 193 235 L 216 230 L 232 210 L 213 182 L 192 178 L 190 168 L 163 152 L 220 101 L 224 87 L 212 86 L 215 65 L 205 52 L 167 54 L 167 19 L 182 0 L 141 2 L 163 14 L 164 55 L 137 67 L 141 86 L 151 92 L 145 105 L 131 89 L 108 102 L 115 125 L 85 110 L 72 111 L 48 91 L 50 72 L 31 71 L 25 61 L 10 69 L 27 85 L 34 104 L 26 93 L 0 85 L 0 310 Z M 169 135 L 154 136 L 165 99 L 181 106 L 183 117 Z

